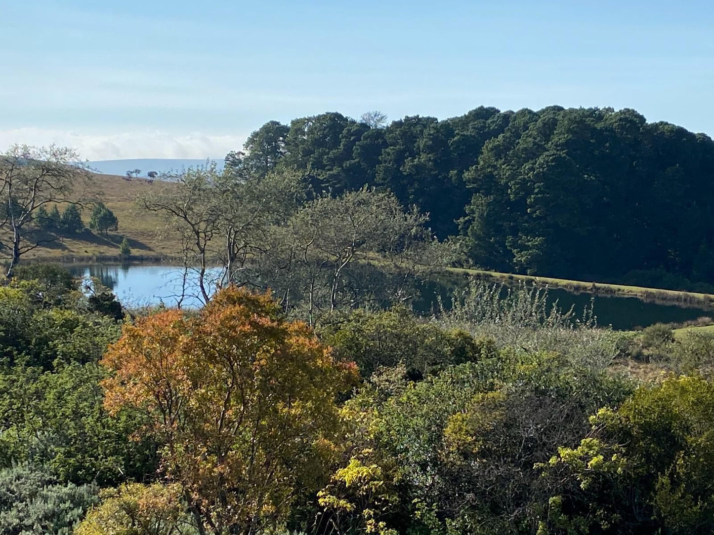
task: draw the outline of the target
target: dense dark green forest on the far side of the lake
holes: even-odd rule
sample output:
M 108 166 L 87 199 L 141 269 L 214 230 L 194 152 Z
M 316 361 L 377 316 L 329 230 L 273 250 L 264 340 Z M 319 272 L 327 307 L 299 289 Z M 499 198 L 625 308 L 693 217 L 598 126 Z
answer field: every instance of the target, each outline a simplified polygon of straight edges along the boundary
M 323 113 L 266 123 L 226 163 L 251 176 L 297 169 L 313 195 L 391 190 L 439 238 L 463 236 L 480 267 L 714 280 L 714 143 L 631 109 L 480 107 L 388 126 Z

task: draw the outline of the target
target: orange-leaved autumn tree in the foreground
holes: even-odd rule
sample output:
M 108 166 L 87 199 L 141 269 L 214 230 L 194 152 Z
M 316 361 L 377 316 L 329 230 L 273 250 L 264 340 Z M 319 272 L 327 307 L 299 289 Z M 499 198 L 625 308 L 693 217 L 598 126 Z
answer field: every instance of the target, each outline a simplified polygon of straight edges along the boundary
M 296 495 L 318 489 L 336 397 L 357 380 L 270 295 L 235 287 L 192 317 L 169 310 L 125 325 L 102 363 L 113 372 L 106 407 L 149 414 L 201 534 L 276 526 Z

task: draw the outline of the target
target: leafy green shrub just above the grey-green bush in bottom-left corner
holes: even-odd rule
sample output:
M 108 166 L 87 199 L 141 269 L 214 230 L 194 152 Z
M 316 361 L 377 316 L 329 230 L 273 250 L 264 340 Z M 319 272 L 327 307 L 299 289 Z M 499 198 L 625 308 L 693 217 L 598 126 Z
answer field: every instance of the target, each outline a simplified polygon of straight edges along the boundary
M 0 467 L 33 463 L 77 484 L 154 472 L 153 444 L 132 438 L 141 421 L 104 410 L 99 381 L 105 374 L 94 364 L 0 372 Z

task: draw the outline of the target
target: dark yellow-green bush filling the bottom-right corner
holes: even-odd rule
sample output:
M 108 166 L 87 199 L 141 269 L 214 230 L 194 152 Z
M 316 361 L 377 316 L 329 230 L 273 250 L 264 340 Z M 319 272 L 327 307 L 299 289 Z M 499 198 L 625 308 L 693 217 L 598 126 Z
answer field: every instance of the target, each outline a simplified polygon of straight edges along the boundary
M 540 465 L 558 480 L 546 532 L 640 533 L 633 526 L 649 519 L 670 534 L 710 533 L 714 384 L 678 377 L 640 387 L 590 423 L 592 436 Z

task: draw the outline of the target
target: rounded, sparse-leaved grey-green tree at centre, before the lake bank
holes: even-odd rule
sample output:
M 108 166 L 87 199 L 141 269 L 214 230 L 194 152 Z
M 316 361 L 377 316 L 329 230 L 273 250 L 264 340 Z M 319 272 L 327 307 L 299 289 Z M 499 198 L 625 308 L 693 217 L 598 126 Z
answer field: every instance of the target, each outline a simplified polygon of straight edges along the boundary
M 417 271 L 445 262 L 424 223 L 391 193 L 365 188 L 318 198 L 271 229 L 266 254 L 256 259 L 258 278 L 286 310 L 288 297 L 299 303 L 310 324 L 341 307 L 402 300 Z

